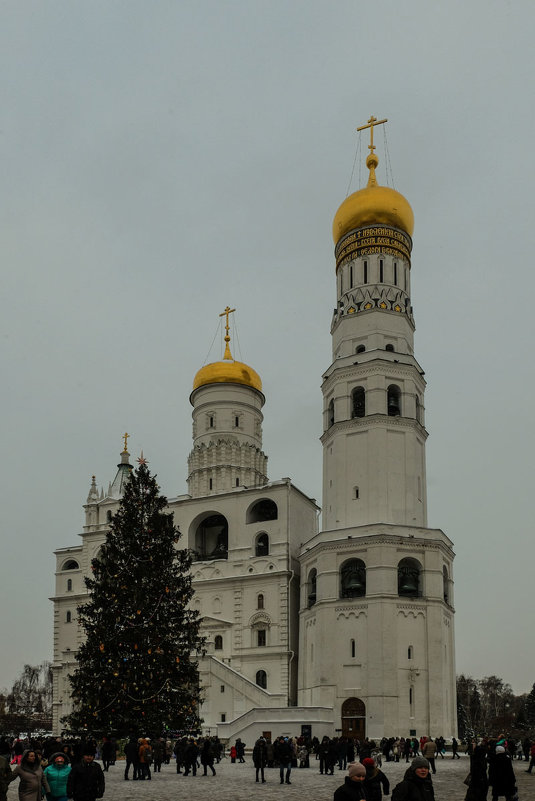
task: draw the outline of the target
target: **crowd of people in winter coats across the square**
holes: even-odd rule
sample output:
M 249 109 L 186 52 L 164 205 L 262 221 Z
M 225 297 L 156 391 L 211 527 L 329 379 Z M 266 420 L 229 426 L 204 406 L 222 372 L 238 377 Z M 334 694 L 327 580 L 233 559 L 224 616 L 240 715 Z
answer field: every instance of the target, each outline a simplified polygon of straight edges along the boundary
M 344 783 L 334 794 L 334 801 L 382 801 L 390 794 L 390 782 L 382 771 L 383 761 L 408 765 L 403 780 L 392 791 L 392 801 L 434 801 L 432 774 L 436 759 L 458 759 L 459 743 L 454 738 L 446 751 L 442 737 L 390 737 L 378 743 L 368 738 L 344 737 L 269 737 L 260 736 L 252 748 L 252 764 L 256 782 L 266 782 L 266 768 L 279 772 L 280 784 L 291 784 L 292 768 L 310 768 L 317 763 L 320 774 L 334 775 L 335 768 L 347 770 Z M 521 743 L 499 737 L 469 740 L 464 750 L 470 758 L 465 779 L 465 801 L 487 801 L 489 789 L 493 801 L 500 796 L 507 801 L 517 798 L 513 759 L 529 761 L 535 767 L 535 742 L 525 738 Z M 117 759 L 118 745 L 112 737 L 101 743 L 94 740 L 24 741 L 0 738 L 0 801 L 7 801 L 9 784 L 19 780 L 19 801 L 96 801 L 102 798 L 106 773 Z M 230 762 L 243 763 L 246 744 L 240 738 L 230 746 Z M 102 767 L 95 762 L 99 756 Z M 177 774 L 215 776 L 217 765 L 225 754 L 218 737 L 179 737 L 175 741 L 158 737 L 130 737 L 124 744 L 124 779 L 150 781 L 153 773 L 174 758 Z M 210 771 L 210 774 L 208 773 Z M 130 776 L 130 772 L 132 775 Z

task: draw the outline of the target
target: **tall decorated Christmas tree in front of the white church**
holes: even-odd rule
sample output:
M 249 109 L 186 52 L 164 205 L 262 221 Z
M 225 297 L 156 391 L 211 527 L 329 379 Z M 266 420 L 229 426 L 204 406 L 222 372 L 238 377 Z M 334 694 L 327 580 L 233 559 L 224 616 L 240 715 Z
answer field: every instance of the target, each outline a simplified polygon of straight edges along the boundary
M 191 556 L 176 547 L 167 499 L 143 456 L 138 462 L 85 579 L 90 600 L 78 608 L 85 641 L 70 676 L 74 711 L 64 719 L 75 733 L 155 736 L 200 723 Z

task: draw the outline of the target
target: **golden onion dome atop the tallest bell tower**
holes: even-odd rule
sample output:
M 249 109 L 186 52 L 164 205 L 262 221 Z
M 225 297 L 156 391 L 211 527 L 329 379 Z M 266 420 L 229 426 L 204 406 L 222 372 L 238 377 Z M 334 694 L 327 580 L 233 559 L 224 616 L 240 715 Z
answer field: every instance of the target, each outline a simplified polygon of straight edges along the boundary
M 333 220 L 333 239 L 337 244 L 349 231 L 366 225 L 391 225 L 405 231 L 410 237 L 414 230 L 414 214 L 409 201 L 400 192 L 388 186 L 379 186 L 375 168 L 379 159 L 370 153 L 366 166 L 370 170 L 368 185 L 349 195 Z

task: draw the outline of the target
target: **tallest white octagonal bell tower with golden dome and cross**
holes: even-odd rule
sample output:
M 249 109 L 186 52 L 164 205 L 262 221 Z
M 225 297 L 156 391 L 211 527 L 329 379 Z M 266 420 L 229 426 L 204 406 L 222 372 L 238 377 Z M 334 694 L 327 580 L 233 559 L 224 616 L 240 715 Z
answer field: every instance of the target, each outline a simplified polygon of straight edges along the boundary
M 323 530 L 301 553 L 299 705 L 349 737 L 456 732 L 452 543 L 427 528 L 424 372 L 410 301 L 414 218 L 377 183 L 333 223 L 323 375 Z

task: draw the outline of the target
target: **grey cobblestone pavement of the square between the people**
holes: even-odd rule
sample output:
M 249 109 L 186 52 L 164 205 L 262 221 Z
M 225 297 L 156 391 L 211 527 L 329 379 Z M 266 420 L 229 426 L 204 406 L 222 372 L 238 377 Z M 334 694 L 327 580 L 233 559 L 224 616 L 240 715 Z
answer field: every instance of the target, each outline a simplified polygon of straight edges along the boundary
M 513 762 L 517 776 L 520 801 L 535 800 L 535 772 L 526 773 L 527 763 Z M 124 762 L 117 762 L 106 773 L 106 793 L 104 801 L 332 801 L 333 793 L 342 784 L 345 771 L 335 768 L 334 776 L 322 776 L 319 762 L 312 759 L 310 768 L 293 768 L 291 785 L 281 785 L 277 768 L 266 769 L 266 784 L 256 784 L 255 771 L 250 756 L 246 754 L 245 764 L 232 764 L 223 759 L 215 765 L 216 776 L 177 775 L 173 762 L 163 765 L 161 773 L 153 774 L 152 781 L 124 780 Z M 402 780 L 406 770 L 405 762 L 383 763 L 383 771 L 390 781 L 390 790 Z M 433 776 L 436 801 L 464 801 L 466 787 L 463 779 L 468 773 L 469 760 L 466 756 L 452 760 L 451 757 L 437 761 L 437 772 Z M 18 781 L 11 784 L 8 801 L 17 801 Z M 491 795 L 489 792 L 489 801 Z

